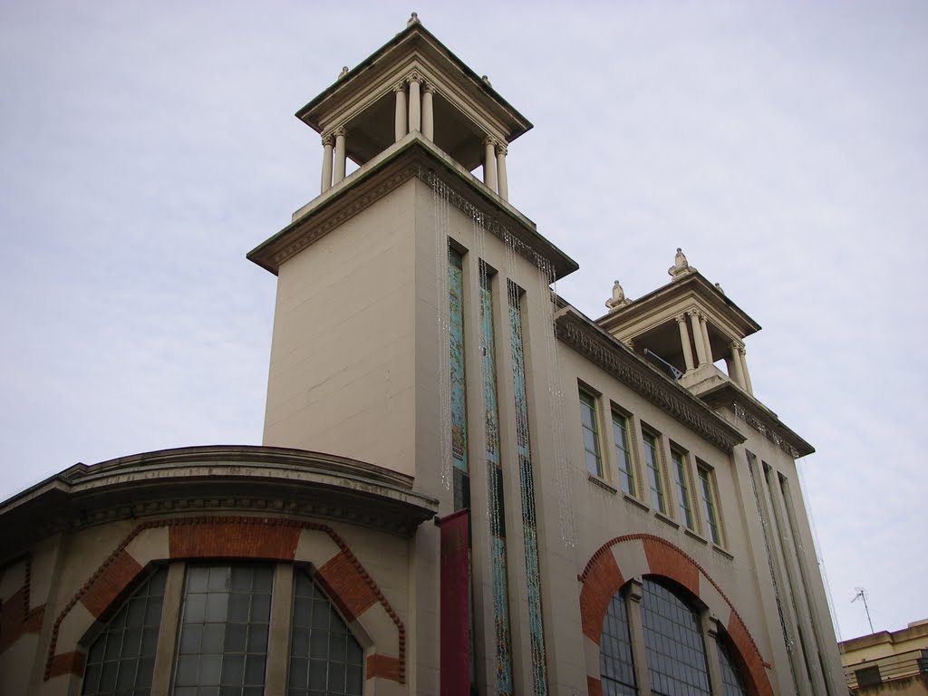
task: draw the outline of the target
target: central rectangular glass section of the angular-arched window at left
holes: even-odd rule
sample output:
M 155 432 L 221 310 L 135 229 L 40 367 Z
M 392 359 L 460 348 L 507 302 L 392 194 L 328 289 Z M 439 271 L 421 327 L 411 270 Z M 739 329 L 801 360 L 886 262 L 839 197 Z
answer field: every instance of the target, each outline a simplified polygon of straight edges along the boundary
M 270 566 L 187 569 L 174 696 L 264 693 L 273 572 Z

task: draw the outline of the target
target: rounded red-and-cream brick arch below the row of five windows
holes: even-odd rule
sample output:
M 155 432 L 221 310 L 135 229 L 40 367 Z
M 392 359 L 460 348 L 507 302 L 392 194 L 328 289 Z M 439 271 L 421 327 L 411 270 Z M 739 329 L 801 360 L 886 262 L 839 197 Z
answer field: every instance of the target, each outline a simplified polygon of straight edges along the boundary
M 751 696 L 773 696 L 773 687 L 767 677 L 767 667 L 770 665 L 764 661 L 754 638 L 751 638 L 747 626 L 722 588 L 699 563 L 660 536 L 616 536 L 599 547 L 586 562 L 583 573 L 577 576 L 581 583 L 580 619 L 584 636 L 599 646 L 606 608 L 615 593 L 625 585 L 627 578 L 613 554 L 613 548 L 622 544 L 638 544 L 645 559 L 644 567 L 631 569 L 634 571 L 631 573 L 626 570 L 628 577 L 652 574 L 669 578 L 701 599 L 717 615 L 728 614 L 728 638 L 734 647 L 735 660 L 742 674 L 747 677 L 748 692 Z M 709 584 L 708 587 L 701 582 L 701 578 Z M 720 602 L 724 606 L 720 606 Z M 596 664 L 587 664 L 586 683 L 590 696 L 601 696 L 598 660 Z

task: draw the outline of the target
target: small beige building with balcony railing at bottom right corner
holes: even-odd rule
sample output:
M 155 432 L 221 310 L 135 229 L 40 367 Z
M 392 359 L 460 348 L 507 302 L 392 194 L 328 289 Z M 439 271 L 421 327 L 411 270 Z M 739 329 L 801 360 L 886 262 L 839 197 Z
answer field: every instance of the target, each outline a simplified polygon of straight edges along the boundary
M 852 693 L 928 694 L 928 619 L 844 640 L 839 648 Z

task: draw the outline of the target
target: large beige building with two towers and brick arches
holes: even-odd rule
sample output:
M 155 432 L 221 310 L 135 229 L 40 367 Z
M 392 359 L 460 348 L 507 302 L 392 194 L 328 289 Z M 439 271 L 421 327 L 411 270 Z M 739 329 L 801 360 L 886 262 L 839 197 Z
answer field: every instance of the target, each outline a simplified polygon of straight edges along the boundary
M 297 115 L 264 445 L 0 505 L 3 692 L 842 693 L 754 319 L 679 251 L 599 320 L 554 295 L 577 264 L 507 200 L 531 123 L 415 17 Z

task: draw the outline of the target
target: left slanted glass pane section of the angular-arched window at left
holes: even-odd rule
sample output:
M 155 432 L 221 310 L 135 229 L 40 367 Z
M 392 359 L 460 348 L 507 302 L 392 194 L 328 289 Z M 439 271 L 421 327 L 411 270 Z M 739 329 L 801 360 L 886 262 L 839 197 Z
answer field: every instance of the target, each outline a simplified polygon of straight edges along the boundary
M 161 568 L 133 592 L 87 651 L 84 696 L 148 696 L 158 647 L 167 569 Z

